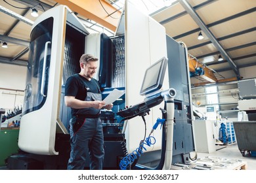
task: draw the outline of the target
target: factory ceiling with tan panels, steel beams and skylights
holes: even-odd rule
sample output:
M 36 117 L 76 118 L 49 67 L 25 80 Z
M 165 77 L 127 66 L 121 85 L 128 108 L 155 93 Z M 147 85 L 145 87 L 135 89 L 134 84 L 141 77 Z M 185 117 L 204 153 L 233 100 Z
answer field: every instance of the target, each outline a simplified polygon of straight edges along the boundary
M 172 2 L 171 6 L 164 6 L 167 1 Z M 0 63 L 27 64 L 30 31 L 36 20 L 30 14 L 32 8 L 42 14 L 56 5 L 68 5 L 87 27 L 111 35 L 118 22 L 113 17 L 120 16 L 123 2 L 0 0 Z M 169 37 L 186 44 L 192 86 L 240 80 L 246 78 L 248 68 L 256 68 L 255 0 L 134 2 L 140 3 L 138 8 L 148 10 L 148 14 L 165 27 Z M 203 38 L 199 40 L 200 34 Z M 5 42 L 8 48 L 2 47 Z M 249 77 L 256 77 L 256 72 Z

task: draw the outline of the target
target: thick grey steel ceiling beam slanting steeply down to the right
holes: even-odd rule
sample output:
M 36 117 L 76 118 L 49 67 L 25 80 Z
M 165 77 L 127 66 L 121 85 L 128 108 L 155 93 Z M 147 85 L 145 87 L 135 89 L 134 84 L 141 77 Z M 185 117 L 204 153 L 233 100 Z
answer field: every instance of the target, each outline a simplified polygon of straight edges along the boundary
M 203 33 L 205 33 L 205 35 L 207 35 L 207 37 L 210 39 L 210 41 L 213 42 L 213 44 L 217 48 L 217 50 L 219 50 L 219 52 L 221 52 L 221 55 L 224 57 L 224 59 L 226 59 L 228 61 L 228 63 L 230 64 L 230 67 L 232 68 L 232 70 L 236 74 L 237 78 L 239 79 L 240 73 L 239 73 L 239 69 L 238 69 L 236 63 L 234 63 L 234 61 L 232 61 L 230 56 L 224 50 L 223 46 L 221 46 L 221 44 L 219 44 L 219 42 L 217 41 L 217 39 L 215 38 L 213 33 L 211 33 L 209 28 L 203 23 L 203 20 L 200 18 L 200 16 L 198 16 L 197 12 L 193 9 L 193 7 L 186 0 L 179 0 L 179 2 L 181 3 L 182 7 L 188 12 L 188 14 L 190 14 L 190 16 L 196 22 L 196 24 L 199 25 L 199 27 L 202 29 Z

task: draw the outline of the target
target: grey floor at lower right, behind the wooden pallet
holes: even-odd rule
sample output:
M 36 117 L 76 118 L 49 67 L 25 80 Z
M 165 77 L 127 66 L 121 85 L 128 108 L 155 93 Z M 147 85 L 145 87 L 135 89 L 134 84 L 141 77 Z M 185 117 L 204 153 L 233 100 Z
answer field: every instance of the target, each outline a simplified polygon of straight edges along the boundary
M 217 146 L 216 152 L 208 153 L 197 153 L 198 158 L 227 158 L 227 159 L 240 159 L 241 161 L 245 161 L 247 163 L 247 170 L 256 170 L 256 157 L 248 156 L 245 153 L 245 156 L 242 156 L 240 150 L 238 149 L 238 145 L 236 143 L 229 144 L 227 146 Z

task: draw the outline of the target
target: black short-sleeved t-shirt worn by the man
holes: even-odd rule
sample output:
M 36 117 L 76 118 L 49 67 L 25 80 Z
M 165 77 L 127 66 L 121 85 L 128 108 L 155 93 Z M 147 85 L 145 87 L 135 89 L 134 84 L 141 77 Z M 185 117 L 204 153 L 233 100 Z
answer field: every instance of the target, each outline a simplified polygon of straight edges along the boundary
M 98 84 L 98 81 L 95 80 L 95 78 L 92 78 L 91 80 L 87 80 L 87 78 L 84 78 L 79 74 L 75 74 L 73 76 L 70 76 L 70 78 L 68 78 L 68 80 L 66 81 L 65 96 L 73 96 L 75 97 L 75 99 L 84 101 L 85 97 L 87 96 L 87 92 L 101 93 L 100 86 Z M 100 110 L 96 108 L 85 108 L 85 109 L 71 108 L 72 116 L 75 116 L 76 114 L 84 115 L 85 113 L 98 114 L 99 111 Z

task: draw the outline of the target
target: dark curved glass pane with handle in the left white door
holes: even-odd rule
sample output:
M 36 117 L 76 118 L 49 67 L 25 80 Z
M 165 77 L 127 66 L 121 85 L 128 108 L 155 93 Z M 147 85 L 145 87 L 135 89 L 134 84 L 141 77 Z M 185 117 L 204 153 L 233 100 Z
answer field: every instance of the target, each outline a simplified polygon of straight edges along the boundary
M 38 110 L 47 98 L 52 37 L 53 17 L 39 23 L 31 33 L 23 114 Z

